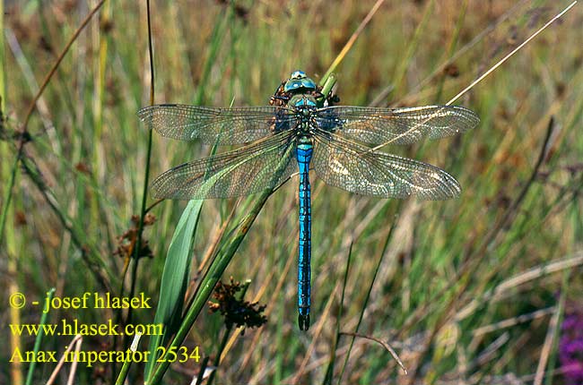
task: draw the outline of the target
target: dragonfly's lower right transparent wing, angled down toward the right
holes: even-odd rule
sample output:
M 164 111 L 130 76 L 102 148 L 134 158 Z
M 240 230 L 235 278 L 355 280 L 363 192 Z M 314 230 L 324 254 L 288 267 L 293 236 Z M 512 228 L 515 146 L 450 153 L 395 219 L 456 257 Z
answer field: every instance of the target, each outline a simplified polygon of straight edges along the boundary
M 362 195 L 382 198 L 414 195 L 431 201 L 447 200 L 461 192 L 457 180 L 438 167 L 383 152 L 371 152 L 335 133 L 318 131 L 315 137 L 312 164 L 326 184 Z

